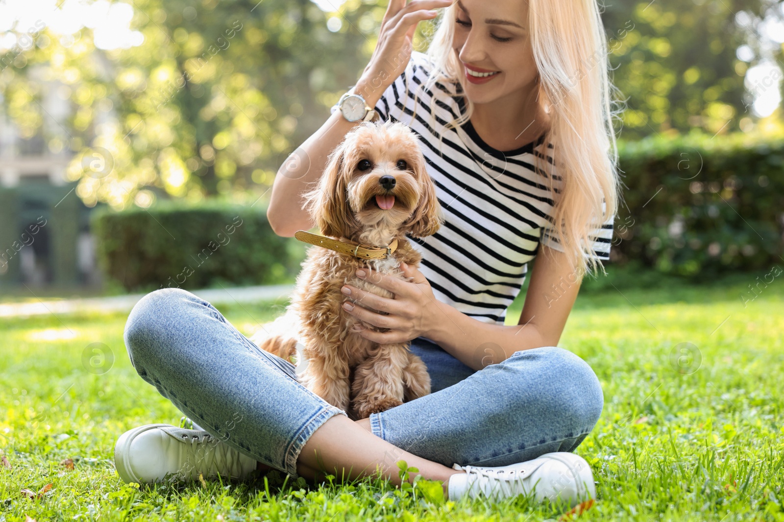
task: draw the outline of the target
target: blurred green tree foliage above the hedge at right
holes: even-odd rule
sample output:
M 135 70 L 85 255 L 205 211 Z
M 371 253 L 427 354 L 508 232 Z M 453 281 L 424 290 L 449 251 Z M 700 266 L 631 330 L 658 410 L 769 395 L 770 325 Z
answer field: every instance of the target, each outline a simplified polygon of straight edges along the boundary
M 778 8 L 778 2 L 773 5 Z M 750 121 L 744 88 L 748 63 L 736 56 L 750 34 L 736 18 L 740 12 L 764 16 L 770 8 L 767 0 L 620 0 L 607 5 L 603 19 L 609 59 L 615 86 L 627 99 L 622 138 L 690 128 L 715 134 L 739 130 L 744 117 Z

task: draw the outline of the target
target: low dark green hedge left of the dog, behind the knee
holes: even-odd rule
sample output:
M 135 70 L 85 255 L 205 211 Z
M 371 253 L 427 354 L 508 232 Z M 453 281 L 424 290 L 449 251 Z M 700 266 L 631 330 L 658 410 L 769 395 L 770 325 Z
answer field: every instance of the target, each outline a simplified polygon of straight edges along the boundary
M 293 281 L 305 251 L 272 232 L 261 205 L 162 202 L 96 211 L 93 232 L 103 274 L 125 290 Z

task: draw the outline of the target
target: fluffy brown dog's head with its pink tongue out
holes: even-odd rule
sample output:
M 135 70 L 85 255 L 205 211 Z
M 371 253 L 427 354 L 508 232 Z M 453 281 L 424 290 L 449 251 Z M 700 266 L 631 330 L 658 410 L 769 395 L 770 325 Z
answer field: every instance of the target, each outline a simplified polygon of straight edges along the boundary
M 439 225 L 435 185 L 419 141 L 399 122 L 366 122 L 350 131 L 309 199 L 327 236 L 368 240 L 410 232 L 420 237 Z

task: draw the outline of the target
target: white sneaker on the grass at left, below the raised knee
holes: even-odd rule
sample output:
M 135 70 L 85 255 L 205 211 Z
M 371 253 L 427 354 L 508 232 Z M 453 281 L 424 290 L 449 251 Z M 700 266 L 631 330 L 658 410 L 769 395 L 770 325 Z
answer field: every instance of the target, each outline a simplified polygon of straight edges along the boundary
M 172 479 L 242 478 L 256 470 L 256 460 L 212 437 L 205 430 L 147 424 L 126 431 L 114 446 L 114 466 L 125 482 Z

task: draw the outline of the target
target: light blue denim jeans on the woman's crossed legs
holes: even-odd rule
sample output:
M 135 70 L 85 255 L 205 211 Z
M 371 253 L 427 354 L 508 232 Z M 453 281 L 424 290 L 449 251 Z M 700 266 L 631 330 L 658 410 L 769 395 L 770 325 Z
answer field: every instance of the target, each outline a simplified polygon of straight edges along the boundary
M 185 290 L 143 297 L 125 325 L 125 346 L 143 380 L 199 426 L 293 477 L 310 435 L 345 415 L 303 387 L 294 365 L 261 351 Z M 372 432 L 445 466 L 506 466 L 571 452 L 604 405 L 590 366 L 561 348 L 517 351 L 478 372 L 423 338 L 411 349 L 427 365 L 433 393 L 373 414 Z

